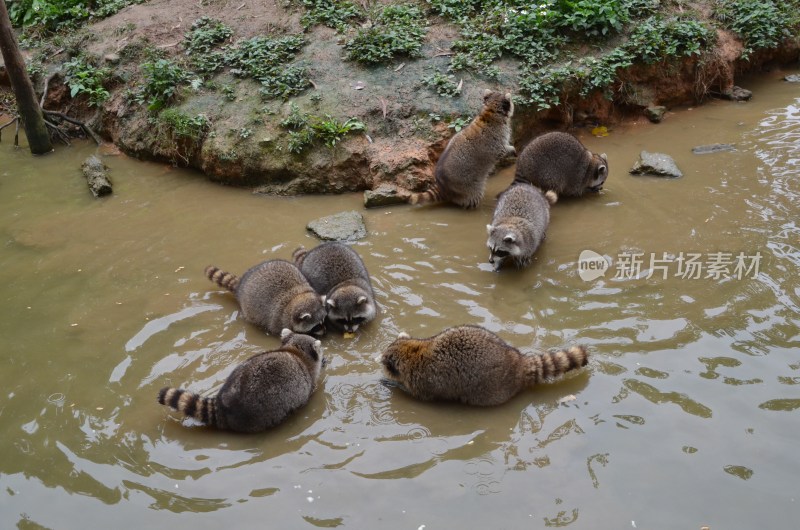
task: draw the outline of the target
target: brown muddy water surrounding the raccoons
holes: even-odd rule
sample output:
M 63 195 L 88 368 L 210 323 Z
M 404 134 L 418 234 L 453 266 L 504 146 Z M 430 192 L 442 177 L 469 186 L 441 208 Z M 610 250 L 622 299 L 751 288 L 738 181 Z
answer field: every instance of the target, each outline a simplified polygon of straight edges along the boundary
M 255 196 L 108 156 L 114 195 L 95 200 L 77 169 L 94 146 L 33 159 L 4 138 L 0 527 L 796 527 L 800 85 L 785 73 L 747 82 L 746 104 L 582 134 L 608 154 L 606 189 L 557 204 L 524 271 L 486 261 L 493 199 L 364 211 L 379 317 L 326 337 L 308 406 L 248 436 L 155 401 L 166 384 L 210 393 L 278 344 L 203 268 L 288 258 L 315 244 L 309 220 L 361 196 Z M 692 154 L 711 143 L 736 151 Z M 685 176 L 628 175 L 643 149 Z M 613 260 L 604 277 L 581 279 L 583 250 Z M 466 323 L 593 358 L 492 408 L 379 384 L 399 331 Z

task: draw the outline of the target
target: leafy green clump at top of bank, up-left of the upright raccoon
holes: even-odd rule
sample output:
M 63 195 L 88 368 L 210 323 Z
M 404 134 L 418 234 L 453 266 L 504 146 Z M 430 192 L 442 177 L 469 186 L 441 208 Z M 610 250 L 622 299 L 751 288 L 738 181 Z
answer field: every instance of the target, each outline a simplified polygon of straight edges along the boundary
M 369 28 L 345 43 L 347 58 L 364 64 L 390 61 L 399 55 L 420 57 L 425 17 L 414 5 L 387 5 Z

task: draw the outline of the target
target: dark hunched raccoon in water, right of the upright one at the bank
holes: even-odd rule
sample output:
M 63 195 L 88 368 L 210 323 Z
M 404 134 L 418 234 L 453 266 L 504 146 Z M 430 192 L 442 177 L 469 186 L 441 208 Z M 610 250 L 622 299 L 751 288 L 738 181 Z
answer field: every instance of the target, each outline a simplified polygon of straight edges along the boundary
M 549 132 L 533 139 L 517 159 L 515 182 L 530 182 L 559 197 L 580 197 L 600 191 L 608 177 L 605 153 L 592 153 L 564 132 Z

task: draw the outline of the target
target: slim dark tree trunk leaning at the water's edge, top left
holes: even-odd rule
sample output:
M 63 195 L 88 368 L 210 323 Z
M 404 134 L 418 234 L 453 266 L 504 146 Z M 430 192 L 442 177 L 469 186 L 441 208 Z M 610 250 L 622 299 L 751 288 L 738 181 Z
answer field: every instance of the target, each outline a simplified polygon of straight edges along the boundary
M 17 109 L 25 127 L 31 153 L 35 155 L 49 153 L 53 150 L 50 133 L 44 123 L 39 102 L 36 101 L 33 84 L 25 70 L 25 61 L 19 53 L 17 39 L 11 30 L 11 20 L 8 18 L 5 0 L 0 0 L 0 52 L 3 54 L 3 62 L 11 80 L 11 89 L 17 99 Z

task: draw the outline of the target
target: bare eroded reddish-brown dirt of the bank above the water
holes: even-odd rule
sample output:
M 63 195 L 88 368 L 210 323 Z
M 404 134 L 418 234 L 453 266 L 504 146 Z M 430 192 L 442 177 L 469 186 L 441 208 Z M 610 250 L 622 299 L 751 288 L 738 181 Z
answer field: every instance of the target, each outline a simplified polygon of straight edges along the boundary
M 420 79 L 444 71 L 458 29 L 439 20 L 427 28 L 423 57 L 397 59 L 387 65 L 360 66 L 343 60 L 341 36 L 324 26 L 307 30 L 297 60 L 307 67 L 312 88 L 286 101 L 265 101 L 259 84 L 236 80 L 229 71 L 196 90 L 183 88 L 174 107 L 184 116 L 204 116 L 202 136 L 176 135 L 145 105 L 135 101 L 132 88 L 140 76 L 143 50 L 166 57 L 184 55 L 184 35 L 194 20 L 213 17 L 233 29 L 231 40 L 262 34 L 303 33 L 300 14 L 271 2 L 201 5 L 187 0 L 155 0 L 130 6 L 87 27 L 77 42 L 55 50 L 43 79 L 59 71 L 58 57 L 80 51 L 105 61 L 113 70 L 110 99 L 91 107 L 72 99 L 64 76 L 52 78 L 45 106 L 65 109 L 87 120 L 105 139 L 139 158 L 197 168 L 225 184 L 251 186 L 265 193 L 339 193 L 375 189 L 381 184 L 406 190 L 424 189 L 446 141 L 478 110 L 485 88 L 515 93 L 513 65 L 501 61 L 499 82 L 459 72 L 458 97 L 443 97 Z M 546 129 L 612 126 L 621 120 L 645 119 L 648 107 L 678 108 L 708 97 L 730 95 L 737 76 L 772 65 L 798 61 L 800 39 L 794 37 L 774 50 L 741 59 L 742 43 L 717 30 L 716 44 L 702 55 L 634 65 L 618 72 L 605 93 L 586 97 L 564 94 L 560 105 L 545 111 L 518 106 L 513 141 L 521 149 Z M 296 105 L 301 113 L 353 118 L 365 129 L 349 134 L 333 147 L 314 145 L 300 154 L 287 147 L 281 122 Z

